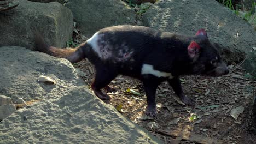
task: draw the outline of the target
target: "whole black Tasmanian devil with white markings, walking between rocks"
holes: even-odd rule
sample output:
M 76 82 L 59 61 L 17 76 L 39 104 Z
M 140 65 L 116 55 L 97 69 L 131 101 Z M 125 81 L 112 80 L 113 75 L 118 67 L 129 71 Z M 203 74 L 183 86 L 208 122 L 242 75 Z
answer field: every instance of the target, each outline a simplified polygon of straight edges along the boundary
M 101 88 L 108 87 L 119 74 L 141 80 L 147 95 L 146 114 L 150 117 L 156 116 L 155 93 L 162 81 L 170 83 L 183 103 L 191 104 L 183 93 L 179 76 L 229 73 L 204 29 L 190 37 L 143 26 L 113 26 L 96 32 L 75 49 L 49 46 L 36 34 L 36 49 L 71 63 L 88 58 L 96 69 L 91 88 L 102 100 L 110 97 Z

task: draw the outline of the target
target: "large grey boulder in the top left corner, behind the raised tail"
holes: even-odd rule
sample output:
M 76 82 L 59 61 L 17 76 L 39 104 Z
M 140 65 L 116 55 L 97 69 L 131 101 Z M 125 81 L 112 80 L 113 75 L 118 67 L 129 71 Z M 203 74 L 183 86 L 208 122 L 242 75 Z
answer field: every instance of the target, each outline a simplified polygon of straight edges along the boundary
M 20 0 L 18 7 L 0 13 L 0 46 L 15 45 L 34 49 L 34 31 L 49 44 L 64 47 L 72 37 L 73 15 L 60 3 Z

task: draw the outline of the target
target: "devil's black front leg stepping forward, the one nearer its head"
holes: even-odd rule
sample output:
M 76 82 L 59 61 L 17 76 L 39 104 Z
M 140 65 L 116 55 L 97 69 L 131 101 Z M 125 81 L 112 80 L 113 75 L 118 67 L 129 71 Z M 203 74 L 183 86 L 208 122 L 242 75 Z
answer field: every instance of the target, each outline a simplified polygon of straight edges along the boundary
M 168 80 L 169 84 L 172 86 L 175 94 L 181 99 L 181 101 L 186 105 L 193 105 L 193 102 L 190 98 L 186 97 L 183 93 L 181 81 L 179 80 L 179 76 L 174 77 L 173 79 Z

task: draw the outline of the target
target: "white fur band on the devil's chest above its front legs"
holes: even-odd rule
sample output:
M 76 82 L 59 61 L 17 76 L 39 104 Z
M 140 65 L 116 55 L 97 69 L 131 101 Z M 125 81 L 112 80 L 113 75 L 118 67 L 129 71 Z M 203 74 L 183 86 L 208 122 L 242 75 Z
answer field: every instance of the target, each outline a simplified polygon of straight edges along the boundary
M 173 78 L 171 73 L 166 73 L 164 71 L 155 70 L 153 65 L 150 65 L 150 64 L 142 65 L 141 74 L 142 75 L 152 74 L 156 77 L 168 77 L 169 79 Z

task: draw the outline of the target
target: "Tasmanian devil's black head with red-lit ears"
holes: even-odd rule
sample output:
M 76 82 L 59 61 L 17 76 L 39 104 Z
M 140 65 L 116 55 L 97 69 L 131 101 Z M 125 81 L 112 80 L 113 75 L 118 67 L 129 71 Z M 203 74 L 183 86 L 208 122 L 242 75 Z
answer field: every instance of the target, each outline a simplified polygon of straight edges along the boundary
M 219 51 L 208 40 L 205 29 L 197 31 L 191 40 L 188 55 L 192 60 L 193 74 L 222 76 L 229 73 Z

